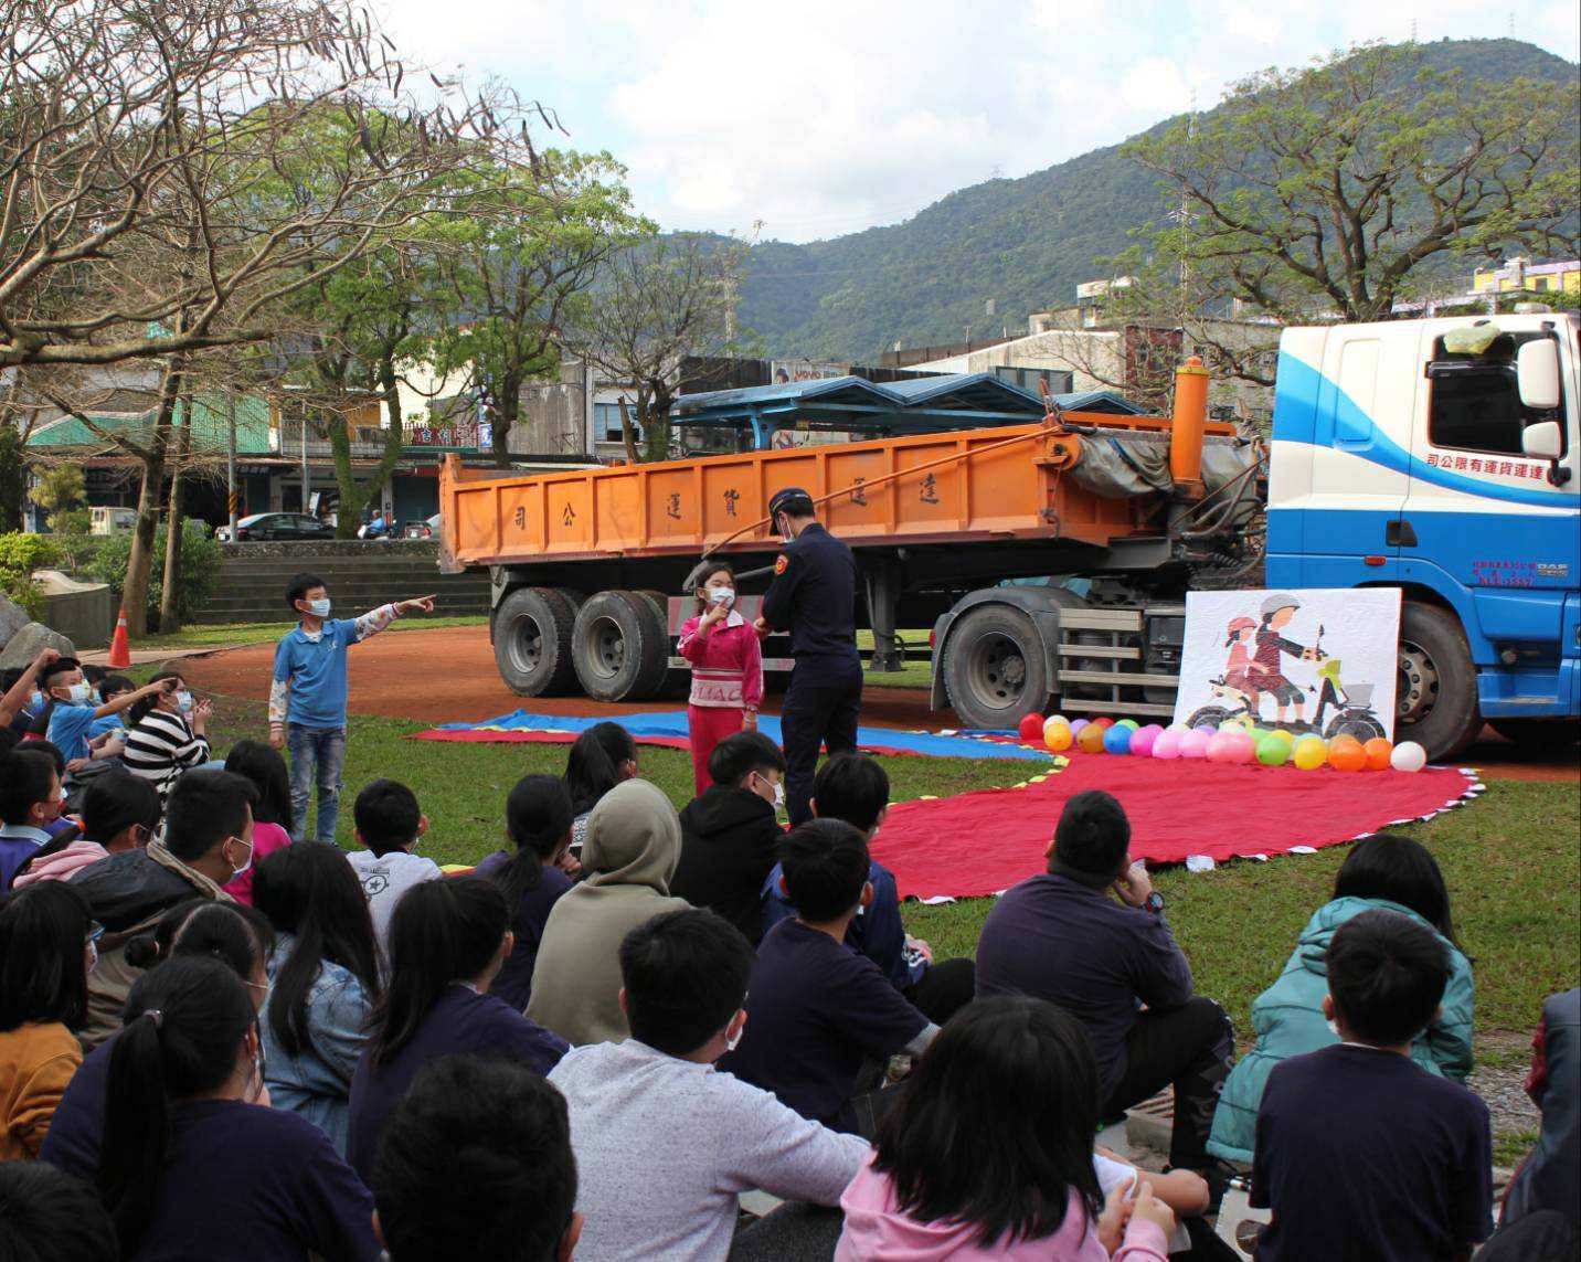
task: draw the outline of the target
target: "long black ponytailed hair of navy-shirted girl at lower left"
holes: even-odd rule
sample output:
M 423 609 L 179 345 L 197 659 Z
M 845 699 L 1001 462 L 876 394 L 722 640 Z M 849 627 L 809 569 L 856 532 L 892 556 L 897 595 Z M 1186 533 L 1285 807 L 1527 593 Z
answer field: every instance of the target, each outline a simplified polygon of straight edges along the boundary
M 229 1082 L 256 1022 L 247 987 L 217 960 L 171 960 L 133 985 L 109 1055 L 98 1169 L 123 1256 L 138 1253 L 158 1200 L 172 1105 Z

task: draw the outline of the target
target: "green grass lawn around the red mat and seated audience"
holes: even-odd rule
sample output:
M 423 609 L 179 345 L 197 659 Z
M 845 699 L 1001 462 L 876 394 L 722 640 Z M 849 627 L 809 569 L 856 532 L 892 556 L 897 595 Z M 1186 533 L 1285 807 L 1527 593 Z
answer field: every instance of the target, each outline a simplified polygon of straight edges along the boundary
M 218 697 L 217 748 L 242 735 L 264 737 L 264 708 Z M 471 863 L 503 844 L 504 799 L 528 772 L 564 770 L 560 745 L 468 745 L 416 742 L 424 724 L 354 716 L 351 721 L 338 840 L 353 844 L 351 802 L 378 776 L 395 776 L 417 792 L 432 830 L 424 852 L 443 863 Z M 691 758 L 643 748 L 642 773 L 677 807 L 691 797 Z M 1017 764 L 966 759 L 887 758 L 895 800 L 1010 784 Z M 1576 982 L 1575 881 L 1581 799 L 1573 784 L 1492 781 L 1481 799 L 1409 832 L 1443 867 L 1456 930 L 1477 971 L 1477 1034 L 1485 1060 L 1523 1061 L 1526 1037 L 1543 996 Z M 1048 826 L 1053 830 L 1055 821 Z M 985 837 L 983 844 L 993 838 Z M 1157 873 L 1168 919 L 1190 957 L 1200 992 L 1222 1001 L 1243 1039 L 1251 1003 L 1284 966 L 1312 911 L 1328 900 L 1345 849 L 1221 865 L 1209 873 L 1183 867 Z M 1031 873 L 1028 873 L 1031 875 Z M 944 906 L 911 903 L 912 933 L 941 955 L 971 955 L 991 900 Z

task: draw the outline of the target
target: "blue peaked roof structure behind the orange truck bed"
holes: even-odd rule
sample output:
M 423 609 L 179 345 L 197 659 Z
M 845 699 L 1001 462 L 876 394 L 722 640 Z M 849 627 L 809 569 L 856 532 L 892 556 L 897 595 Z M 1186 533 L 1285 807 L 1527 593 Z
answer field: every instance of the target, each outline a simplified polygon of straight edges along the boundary
M 1067 411 L 1138 416 L 1141 408 L 1110 391 L 1055 395 Z M 675 400 L 670 424 L 737 430 L 754 449 L 776 430 L 840 430 L 887 438 L 907 433 L 1024 425 L 1043 416 L 1043 400 L 996 373 L 938 373 L 874 383 L 862 376 L 779 381 L 708 391 Z

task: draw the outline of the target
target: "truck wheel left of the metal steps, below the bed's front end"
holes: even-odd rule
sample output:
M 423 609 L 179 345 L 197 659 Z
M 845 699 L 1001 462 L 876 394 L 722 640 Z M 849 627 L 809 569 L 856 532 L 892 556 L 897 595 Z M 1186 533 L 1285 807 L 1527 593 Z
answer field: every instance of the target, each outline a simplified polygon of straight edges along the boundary
M 944 642 L 944 690 L 966 727 L 1015 727 L 1048 704 L 1043 637 L 1020 609 L 980 604 Z

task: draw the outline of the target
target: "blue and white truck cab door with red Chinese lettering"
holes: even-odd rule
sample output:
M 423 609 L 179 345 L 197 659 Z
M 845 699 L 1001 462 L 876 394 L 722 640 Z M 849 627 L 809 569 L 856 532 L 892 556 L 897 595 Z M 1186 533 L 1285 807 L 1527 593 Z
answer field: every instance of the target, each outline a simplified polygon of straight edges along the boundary
M 1401 576 L 1456 606 L 1478 666 L 1557 671 L 1560 655 L 1576 652 L 1560 633 L 1581 576 L 1575 326 L 1526 319 L 1477 350 L 1453 332 L 1423 332 L 1428 389 L 1412 435 Z M 1562 400 L 1546 413 L 1523 406 L 1516 383 L 1519 346 L 1538 337 L 1560 338 Z M 1523 451 L 1523 430 L 1541 421 L 1557 421 L 1564 435 L 1559 486 L 1549 460 Z M 1516 682 L 1511 699 L 1534 683 Z M 1485 678 L 1485 715 L 1521 713 L 1504 710 L 1489 686 Z

